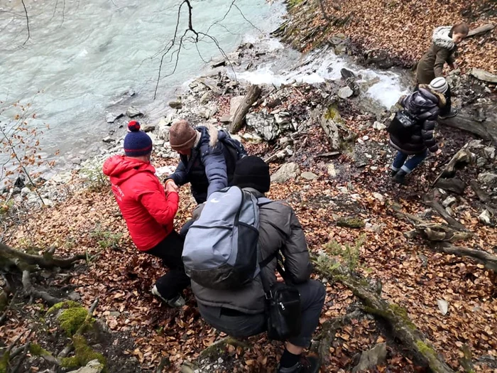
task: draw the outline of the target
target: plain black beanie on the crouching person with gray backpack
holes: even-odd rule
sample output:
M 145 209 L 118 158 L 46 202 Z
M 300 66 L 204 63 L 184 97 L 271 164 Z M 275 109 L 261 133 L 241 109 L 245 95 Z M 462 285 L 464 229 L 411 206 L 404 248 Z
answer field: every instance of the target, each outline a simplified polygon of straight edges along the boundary
M 239 188 L 253 188 L 261 193 L 269 191 L 271 176 L 269 166 L 262 158 L 246 156 L 236 163 L 233 185 Z

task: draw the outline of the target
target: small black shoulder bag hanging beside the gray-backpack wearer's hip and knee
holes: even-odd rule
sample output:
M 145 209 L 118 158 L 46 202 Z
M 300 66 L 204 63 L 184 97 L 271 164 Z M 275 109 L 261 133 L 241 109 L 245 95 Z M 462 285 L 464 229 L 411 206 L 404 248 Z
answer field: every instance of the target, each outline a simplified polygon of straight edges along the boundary
M 274 256 L 266 259 L 267 263 Z M 270 340 L 287 340 L 289 337 L 296 337 L 300 334 L 302 323 L 302 310 L 300 308 L 300 293 L 294 286 L 287 285 L 285 271 L 281 267 L 279 260 L 282 259 L 279 252 L 278 272 L 285 282 L 275 282 L 269 286 L 268 279 L 263 276 L 263 265 L 261 265 L 261 281 L 266 293 L 266 312 L 268 314 L 268 338 Z M 267 264 L 266 263 L 266 264 Z

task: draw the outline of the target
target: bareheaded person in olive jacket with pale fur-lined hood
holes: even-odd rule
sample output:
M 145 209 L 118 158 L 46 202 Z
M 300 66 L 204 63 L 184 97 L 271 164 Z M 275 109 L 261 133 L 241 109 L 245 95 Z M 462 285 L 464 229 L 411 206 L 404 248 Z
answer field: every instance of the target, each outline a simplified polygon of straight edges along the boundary
M 432 46 L 422 56 L 417 63 L 417 84 L 429 85 L 435 77 L 443 77 L 444 65 L 447 63 L 450 68 L 457 69 L 454 53 L 457 50 L 457 44 L 468 36 L 469 27 L 466 23 L 459 23 L 455 26 L 441 26 L 435 28 L 432 36 Z M 455 117 L 457 111 L 452 110 L 450 87 L 445 92 L 446 105 L 439 117 L 442 119 Z

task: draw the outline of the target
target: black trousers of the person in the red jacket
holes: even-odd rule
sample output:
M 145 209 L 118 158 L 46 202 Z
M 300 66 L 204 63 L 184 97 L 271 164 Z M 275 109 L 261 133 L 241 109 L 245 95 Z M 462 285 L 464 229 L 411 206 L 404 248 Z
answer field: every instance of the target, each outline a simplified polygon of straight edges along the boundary
M 178 296 L 183 289 L 190 285 L 190 278 L 185 274 L 185 267 L 181 259 L 184 237 L 173 231 L 157 246 L 147 253 L 162 259 L 169 271 L 155 282 L 160 295 L 169 300 Z

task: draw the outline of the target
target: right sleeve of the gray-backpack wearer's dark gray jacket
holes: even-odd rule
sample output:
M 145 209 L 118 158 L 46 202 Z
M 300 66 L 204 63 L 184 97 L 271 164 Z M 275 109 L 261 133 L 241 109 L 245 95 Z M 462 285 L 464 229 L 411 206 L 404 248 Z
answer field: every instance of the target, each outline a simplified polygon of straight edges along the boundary
M 293 283 L 308 281 L 312 272 L 312 264 L 304 231 L 293 210 L 290 215 L 290 232 L 281 252 L 285 256 L 285 273 L 289 275 L 290 281 Z

